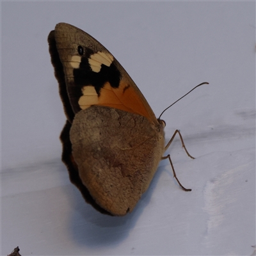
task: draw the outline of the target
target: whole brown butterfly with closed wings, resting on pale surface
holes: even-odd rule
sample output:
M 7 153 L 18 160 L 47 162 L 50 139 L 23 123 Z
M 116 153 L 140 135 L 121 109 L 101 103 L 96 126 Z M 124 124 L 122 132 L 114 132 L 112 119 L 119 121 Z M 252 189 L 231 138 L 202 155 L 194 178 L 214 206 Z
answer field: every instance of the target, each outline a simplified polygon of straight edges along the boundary
M 163 154 L 179 131 L 165 147 L 164 121 L 92 36 L 59 23 L 48 42 L 67 116 L 60 138 L 70 180 L 95 209 L 124 216 L 147 190 L 159 161 L 172 164 Z

